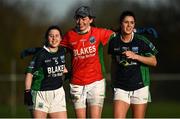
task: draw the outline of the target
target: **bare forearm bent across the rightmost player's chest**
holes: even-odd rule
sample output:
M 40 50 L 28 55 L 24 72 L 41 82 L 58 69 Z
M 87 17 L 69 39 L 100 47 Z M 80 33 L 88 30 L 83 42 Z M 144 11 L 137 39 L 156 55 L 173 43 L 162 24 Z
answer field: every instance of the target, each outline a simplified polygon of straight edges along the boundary
M 145 57 L 145 56 L 141 56 L 141 55 L 136 55 L 135 60 L 149 65 L 149 66 L 156 66 L 157 65 L 157 60 L 155 56 L 151 56 L 151 57 Z

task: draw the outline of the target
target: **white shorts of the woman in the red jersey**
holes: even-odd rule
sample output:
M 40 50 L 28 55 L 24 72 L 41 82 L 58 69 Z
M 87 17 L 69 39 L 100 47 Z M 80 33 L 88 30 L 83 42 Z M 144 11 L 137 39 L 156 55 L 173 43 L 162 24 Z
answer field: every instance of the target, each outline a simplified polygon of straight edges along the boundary
M 102 107 L 105 97 L 105 80 L 102 79 L 84 86 L 70 84 L 70 93 L 75 109 L 86 108 L 86 100 L 89 105 Z

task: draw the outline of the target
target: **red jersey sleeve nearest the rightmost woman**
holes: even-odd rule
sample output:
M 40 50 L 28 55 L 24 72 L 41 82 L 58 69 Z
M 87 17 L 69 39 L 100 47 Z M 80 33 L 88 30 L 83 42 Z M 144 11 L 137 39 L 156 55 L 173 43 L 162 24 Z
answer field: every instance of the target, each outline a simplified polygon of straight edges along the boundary
M 103 45 L 106 45 L 113 36 L 113 31 L 108 29 L 100 29 L 100 40 Z

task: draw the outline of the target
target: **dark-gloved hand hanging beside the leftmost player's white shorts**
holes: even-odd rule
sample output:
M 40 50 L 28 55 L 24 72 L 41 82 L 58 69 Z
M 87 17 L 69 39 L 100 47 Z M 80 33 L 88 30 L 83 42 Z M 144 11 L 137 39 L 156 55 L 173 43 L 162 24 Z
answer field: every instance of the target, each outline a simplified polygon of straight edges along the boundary
M 33 105 L 31 90 L 24 91 L 24 104 L 27 106 Z

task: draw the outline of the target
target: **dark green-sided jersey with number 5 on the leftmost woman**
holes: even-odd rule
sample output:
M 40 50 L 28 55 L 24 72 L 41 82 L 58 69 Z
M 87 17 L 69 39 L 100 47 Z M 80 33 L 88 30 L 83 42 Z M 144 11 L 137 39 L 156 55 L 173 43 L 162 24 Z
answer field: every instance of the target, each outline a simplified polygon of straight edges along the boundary
M 55 53 L 46 47 L 36 53 L 27 68 L 32 73 L 31 89 L 35 91 L 55 90 L 62 86 L 65 66 L 65 49 L 59 47 Z

